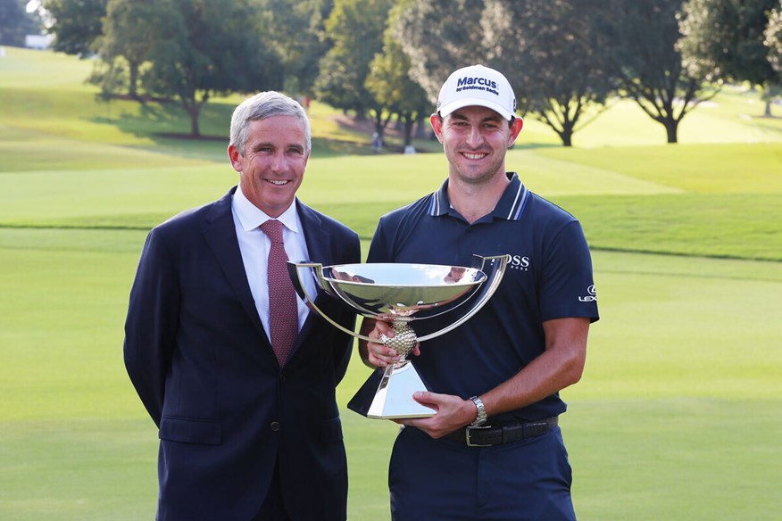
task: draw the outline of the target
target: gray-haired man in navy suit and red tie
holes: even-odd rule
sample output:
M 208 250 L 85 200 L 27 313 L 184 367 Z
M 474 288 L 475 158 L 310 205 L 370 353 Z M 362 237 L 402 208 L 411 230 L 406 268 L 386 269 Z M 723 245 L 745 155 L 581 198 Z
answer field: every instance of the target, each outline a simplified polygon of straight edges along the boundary
M 274 291 L 290 288 L 271 287 L 282 278 L 270 255 L 280 239 L 291 261 L 360 261 L 353 231 L 295 197 L 310 150 L 301 105 L 275 92 L 245 100 L 230 129 L 239 185 L 146 239 L 124 354 L 159 428 L 157 519 L 345 520 L 335 388 L 353 338 L 295 295 L 291 311 L 275 316 L 285 308 Z M 278 239 L 267 236 L 269 224 Z M 314 281 L 304 284 L 314 294 Z M 344 304 L 317 305 L 354 327 Z M 272 333 L 286 318 L 292 335 L 280 349 Z

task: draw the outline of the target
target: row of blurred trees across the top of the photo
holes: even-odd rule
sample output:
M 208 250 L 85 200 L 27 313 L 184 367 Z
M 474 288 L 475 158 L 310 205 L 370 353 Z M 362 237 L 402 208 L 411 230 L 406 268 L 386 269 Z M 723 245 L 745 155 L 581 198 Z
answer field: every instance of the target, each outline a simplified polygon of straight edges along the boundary
M 0 43 L 20 12 L 54 50 L 97 58 L 102 96 L 176 101 L 194 136 L 213 96 L 278 89 L 381 137 L 395 120 L 409 145 L 448 74 L 474 63 L 502 70 L 520 115 L 566 146 L 611 100 L 676 143 L 724 83 L 760 89 L 769 117 L 782 86 L 780 0 L 0 0 Z

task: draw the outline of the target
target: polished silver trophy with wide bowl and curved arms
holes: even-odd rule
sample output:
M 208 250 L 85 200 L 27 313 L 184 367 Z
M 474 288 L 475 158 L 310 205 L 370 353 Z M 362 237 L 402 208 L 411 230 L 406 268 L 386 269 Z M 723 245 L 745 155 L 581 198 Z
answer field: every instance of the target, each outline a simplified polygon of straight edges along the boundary
M 363 317 L 391 322 L 394 336 L 381 335 L 380 342 L 399 353 L 400 360 L 370 376 L 348 404 L 368 418 L 426 418 L 435 410 L 412 399 L 412 393 L 426 391 L 420 375 L 407 355 L 416 343 L 445 335 L 480 310 L 495 293 L 503 278 L 509 255 L 474 256 L 473 267 L 435 264 L 342 264 L 323 267 L 312 262 L 288 262 L 296 292 L 312 310 L 332 326 L 368 342 L 378 342 L 347 329 L 329 318 L 316 305 L 317 295 L 307 294 L 302 281 L 314 277 L 318 293 L 340 299 Z M 463 305 L 470 302 L 469 305 Z M 413 320 L 453 316 L 447 327 L 418 337 Z

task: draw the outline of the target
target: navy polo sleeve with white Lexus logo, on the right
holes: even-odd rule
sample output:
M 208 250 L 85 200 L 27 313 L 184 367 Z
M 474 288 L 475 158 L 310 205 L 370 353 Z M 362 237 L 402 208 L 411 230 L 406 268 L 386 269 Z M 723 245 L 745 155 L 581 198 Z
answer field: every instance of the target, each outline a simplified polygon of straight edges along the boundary
M 598 318 L 592 257 L 577 220 L 567 223 L 545 245 L 540 285 L 541 318 Z

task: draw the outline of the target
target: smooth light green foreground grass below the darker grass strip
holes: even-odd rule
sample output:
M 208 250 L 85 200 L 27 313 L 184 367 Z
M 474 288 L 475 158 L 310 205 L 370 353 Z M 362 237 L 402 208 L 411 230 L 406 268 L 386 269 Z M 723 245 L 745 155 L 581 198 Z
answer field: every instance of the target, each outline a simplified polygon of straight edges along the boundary
M 121 365 L 143 236 L 0 233 L 0 517 L 137 519 L 154 508 L 154 426 Z M 727 520 L 750 504 L 751 518 L 772 519 L 782 266 L 609 252 L 595 266 L 602 320 L 583 381 L 563 393 L 582 518 Z M 366 376 L 354 360 L 340 403 Z M 395 426 L 344 418 L 351 519 L 387 518 Z M 724 493 L 736 473 L 753 486 Z

